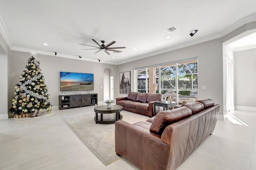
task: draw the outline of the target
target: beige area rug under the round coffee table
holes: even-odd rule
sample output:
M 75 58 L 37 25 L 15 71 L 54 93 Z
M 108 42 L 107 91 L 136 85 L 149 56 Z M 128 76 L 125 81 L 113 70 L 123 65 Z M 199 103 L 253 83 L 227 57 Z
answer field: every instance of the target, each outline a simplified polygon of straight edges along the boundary
M 121 111 L 123 121 L 136 123 L 146 121 L 147 116 L 138 115 L 128 111 Z M 80 140 L 90 149 L 90 151 L 105 165 L 120 159 L 115 152 L 115 125 L 96 124 L 94 121 L 95 113 L 78 115 L 74 117 L 62 117 L 63 121 L 80 138 Z M 116 115 L 103 114 L 104 119 L 115 119 Z M 100 119 L 100 114 L 98 115 Z M 121 157 L 122 158 L 122 157 Z

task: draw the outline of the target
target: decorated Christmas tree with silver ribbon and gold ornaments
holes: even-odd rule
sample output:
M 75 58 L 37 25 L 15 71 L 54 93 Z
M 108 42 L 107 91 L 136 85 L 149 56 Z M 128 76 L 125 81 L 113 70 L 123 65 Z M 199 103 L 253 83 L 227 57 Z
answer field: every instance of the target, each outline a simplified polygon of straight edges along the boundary
M 20 76 L 20 83 L 15 86 L 15 97 L 12 99 L 10 113 L 30 117 L 50 113 L 52 102 L 39 64 L 36 54 L 32 53 Z

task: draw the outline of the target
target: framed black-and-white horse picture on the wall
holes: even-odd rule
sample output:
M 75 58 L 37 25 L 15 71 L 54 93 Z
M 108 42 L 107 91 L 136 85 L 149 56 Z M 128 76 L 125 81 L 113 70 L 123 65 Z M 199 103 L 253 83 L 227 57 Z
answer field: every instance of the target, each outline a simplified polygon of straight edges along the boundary
M 120 93 L 128 94 L 131 91 L 130 79 L 130 71 L 120 73 Z

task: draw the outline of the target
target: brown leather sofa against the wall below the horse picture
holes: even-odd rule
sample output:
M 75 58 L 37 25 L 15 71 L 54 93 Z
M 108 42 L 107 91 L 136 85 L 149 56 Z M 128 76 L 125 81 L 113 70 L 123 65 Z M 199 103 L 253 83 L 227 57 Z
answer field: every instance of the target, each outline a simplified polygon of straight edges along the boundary
M 159 93 L 137 93 L 129 92 L 127 97 L 117 97 L 116 105 L 123 106 L 123 110 L 146 115 L 154 116 L 154 102 L 162 99 Z

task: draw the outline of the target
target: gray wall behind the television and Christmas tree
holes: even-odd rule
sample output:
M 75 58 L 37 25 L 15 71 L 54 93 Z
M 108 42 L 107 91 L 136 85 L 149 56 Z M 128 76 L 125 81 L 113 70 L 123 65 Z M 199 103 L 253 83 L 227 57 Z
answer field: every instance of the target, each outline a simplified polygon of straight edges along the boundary
M 11 106 L 12 97 L 14 97 L 15 84 L 19 83 L 19 77 L 25 69 L 30 53 L 20 51 L 10 51 L 8 54 L 9 62 L 9 90 L 8 90 L 8 106 Z M 60 92 L 60 71 L 93 73 L 94 74 L 94 90 L 98 93 L 98 101 L 103 101 L 104 94 L 104 69 L 111 68 L 116 70 L 116 65 L 96 63 L 79 59 L 68 59 L 63 57 L 37 55 L 40 60 L 40 69 L 45 77 L 45 83 L 48 87 L 48 93 L 54 106 L 58 106 L 58 95 Z M 112 73 L 116 77 L 116 72 Z M 102 88 L 101 88 L 102 87 Z M 118 88 L 118 86 L 114 87 Z M 86 94 L 90 91 L 66 91 L 66 95 L 70 94 Z M 114 94 L 116 95 L 116 94 Z M 54 108 L 56 109 L 56 107 Z

